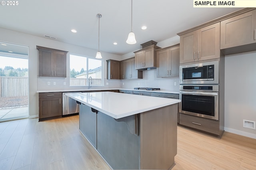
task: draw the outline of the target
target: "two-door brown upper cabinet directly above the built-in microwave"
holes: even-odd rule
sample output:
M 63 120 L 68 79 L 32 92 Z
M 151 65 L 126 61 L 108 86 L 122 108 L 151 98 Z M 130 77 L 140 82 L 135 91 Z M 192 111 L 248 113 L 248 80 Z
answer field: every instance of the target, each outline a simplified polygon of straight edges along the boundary
M 180 63 L 220 57 L 220 22 L 180 36 Z

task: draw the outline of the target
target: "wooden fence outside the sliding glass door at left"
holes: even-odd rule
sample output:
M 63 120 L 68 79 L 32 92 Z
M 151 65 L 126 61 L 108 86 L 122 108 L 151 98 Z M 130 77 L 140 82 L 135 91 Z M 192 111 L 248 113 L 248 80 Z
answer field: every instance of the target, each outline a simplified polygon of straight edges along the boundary
M 28 77 L 0 77 L 0 97 L 28 96 Z

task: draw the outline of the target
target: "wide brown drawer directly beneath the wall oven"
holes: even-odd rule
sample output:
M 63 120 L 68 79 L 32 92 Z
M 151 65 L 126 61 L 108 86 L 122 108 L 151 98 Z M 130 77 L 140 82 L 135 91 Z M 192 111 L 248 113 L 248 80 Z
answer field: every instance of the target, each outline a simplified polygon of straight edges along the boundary
M 209 119 L 180 113 L 180 125 L 185 125 L 198 130 L 220 135 L 220 123 L 217 121 L 211 121 Z

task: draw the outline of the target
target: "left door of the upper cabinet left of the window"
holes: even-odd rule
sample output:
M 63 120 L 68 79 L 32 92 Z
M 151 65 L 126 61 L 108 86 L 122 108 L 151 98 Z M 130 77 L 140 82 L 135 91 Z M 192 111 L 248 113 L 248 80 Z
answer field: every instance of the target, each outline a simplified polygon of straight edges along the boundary
M 51 50 L 39 49 L 39 76 L 53 76 L 53 52 Z

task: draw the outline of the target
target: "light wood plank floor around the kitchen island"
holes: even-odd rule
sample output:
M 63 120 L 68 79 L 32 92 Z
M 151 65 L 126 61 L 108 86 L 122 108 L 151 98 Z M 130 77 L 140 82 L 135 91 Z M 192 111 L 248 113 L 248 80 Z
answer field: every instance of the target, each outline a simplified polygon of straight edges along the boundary
M 110 169 L 78 130 L 78 115 L 0 123 L 0 170 Z M 216 138 L 178 126 L 172 170 L 256 170 L 256 139 Z

